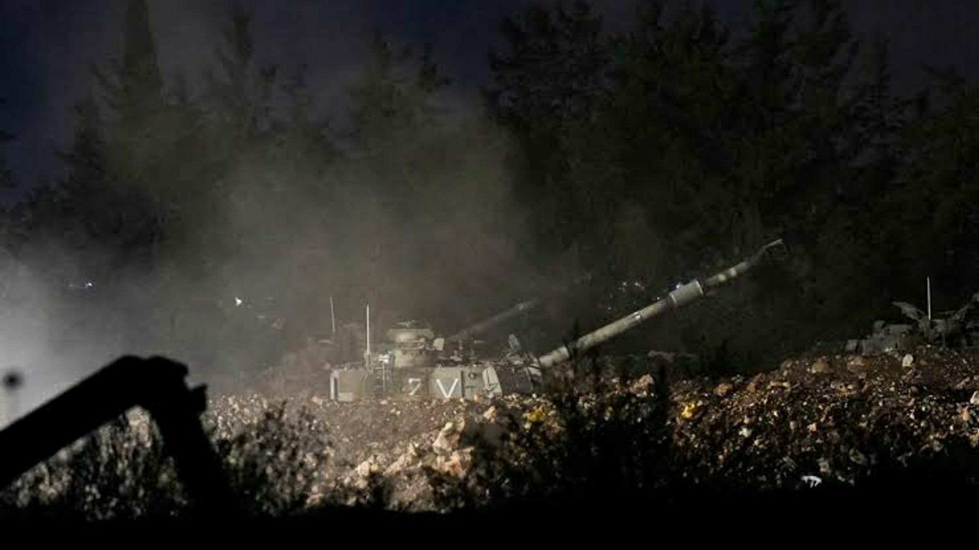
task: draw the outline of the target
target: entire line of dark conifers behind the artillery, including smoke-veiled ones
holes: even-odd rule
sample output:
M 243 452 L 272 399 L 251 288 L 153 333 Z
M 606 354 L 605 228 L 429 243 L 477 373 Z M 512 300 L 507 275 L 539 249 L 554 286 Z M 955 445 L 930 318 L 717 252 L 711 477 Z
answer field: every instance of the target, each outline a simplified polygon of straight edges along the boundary
M 896 94 L 838 1 L 758 2 L 743 29 L 666 4 L 624 31 L 586 2 L 513 15 L 465 113 L 435 52 L 379 35 L 340 125 L 303 67 L 258 64 L 241 11 L 199 89 L 167 81 L 132 0 L 65 176 L 6 212 L 2 245 L 53 288 L 111 289 L 81 315 L 117 312 L 95 317 L 123 341 L 229 365 L 323 329 L 330 296 L 458 321 L 588 272 L 586 301 L 619 296 L 575 312 L 594 326 L 779 237 L 789 263 L 629 339 L 758 364 L 864 332 L 925 277 L 950 308 L 974 290 L 974 83 Z M 259 331 L 279 340 L 238 297 L 286 317 Z

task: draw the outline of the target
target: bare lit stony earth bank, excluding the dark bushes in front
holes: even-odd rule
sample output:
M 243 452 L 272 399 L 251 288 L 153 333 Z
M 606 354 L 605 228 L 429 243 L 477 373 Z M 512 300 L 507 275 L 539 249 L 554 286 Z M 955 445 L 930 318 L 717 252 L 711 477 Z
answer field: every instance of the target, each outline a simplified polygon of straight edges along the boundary
M 875 356 L 824 355 L 784 362 L 754 377 L 685 380 L 670 386 L 668 412 L 650 405 L 663 385 L 652 376 L 613 380 L 575 396 L 576 411 L 608 422 L 665 420 L 671 475 L 690 483 L 748 489 L 856 484 L 875 472 L 938 460 L 950 448 L 979 445 L 979 351 L 922 347 Z M 627 401 L 615 400 L 628 397 Z M 240 429 L 276 401 L 224 396 L 211 404 L 219 431 Z M 620 409 L 602 413 L 613 403 Z M 511 395 L 492 401 L 362 401 L 305 396 L 329 441 L 318 502 L 340 487 L 372 481 L 392 487 L 392 507 L 438 509 L 432 473 L 462 480 L 485 437 L 551 426 L 561 430 L 567 400 Z M 587 412 L 591 411 L 591 412 Z M 653 432 L 636 429 L 636 435 Z M 557 439 L 552 439 L 556 441 Z M 354 497 L 350 497 L 351 499 Z

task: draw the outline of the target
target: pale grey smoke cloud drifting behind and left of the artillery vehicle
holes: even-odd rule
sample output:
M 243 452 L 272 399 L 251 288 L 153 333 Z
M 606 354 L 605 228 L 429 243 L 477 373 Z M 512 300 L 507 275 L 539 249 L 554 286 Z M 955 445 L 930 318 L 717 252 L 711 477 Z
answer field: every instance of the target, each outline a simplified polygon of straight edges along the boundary
M 366 64 L 372 27 L 383 30 L 373 23 L 385 18 L 353 2 L 328 12 L 312 3 L 252 7 L 258 64 L 315 61 L 307 83 L 316 116 L 334 121 L 330 137 L 343 147 L 350 83 Z M 88 66 L 120 57 L 121 8 L 100 4 L 102 12 L 73 20 L 72 47 L 50 46 L 50 57 L 65 65 L 43 76 L 45 89 L 64 89 L 56 81 L 90 89 Z M 227 15 L 214 4 L 151 4 L 168 84 L 182 76 L 192 94 L 200 92 Z M 277 39 L 283 36 L 290 40 Z M 543 268 L 531 267 L 525 251 L 534 208 L 512 190 L 515 144 L 489 123 L 475 92 L 453 82 L 436 97 L 436 123 L 325 169 L 268 150 L 238 152 L 218 180 L 197 182 L 225 200 L 190 221 L 167 251 L 179 267 L 92 271 L 102 251 L 28 242 L 5 263 L 12 305 L 2 319 L 5 361 L 25 379 L 20 412 L 123 353 L 188 361 L 193 381 L 221 385 L 274 364 L 306 338 L 328 336 L 330 298 L 342 321 L 361 320 L 370 304 L 383 338 L 385 325 L 400 319 L 454 331 L 543 290 Z M 70 127 L 80 95 L 48 98 L 46 118 L 31 124 Z M 67 135 L 60 141 L 68 149 Z M 282 152 L 288 157 L 289 147 Z M 194 269 L 215 257 L 219 268 Z M 46 280 L 46 273 L 61 276 Z

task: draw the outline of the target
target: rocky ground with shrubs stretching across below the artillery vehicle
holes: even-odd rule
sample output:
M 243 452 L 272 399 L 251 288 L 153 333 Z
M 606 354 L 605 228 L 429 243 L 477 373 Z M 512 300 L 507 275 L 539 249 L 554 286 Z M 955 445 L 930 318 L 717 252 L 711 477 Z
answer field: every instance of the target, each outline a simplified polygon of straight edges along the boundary
M 232 482 L 272 515 L 331 504 L 447 511 L 595 487 L 614 498 L 670 487 L 810 494 L 922 468 L 979 478 L 979 350 L 811 356 L 754 377 L 674 381 L 619 363 L 603 359 L 612 374 L 597 389 L 482 401 L 215 395 L 204 420 Z M 579 388 L 594 386 L 584 378 Z M 170 514 L 183 501 L 150 427 L 133 413 L 83 461 L 60 453 L 19 485 L 21 507 Z

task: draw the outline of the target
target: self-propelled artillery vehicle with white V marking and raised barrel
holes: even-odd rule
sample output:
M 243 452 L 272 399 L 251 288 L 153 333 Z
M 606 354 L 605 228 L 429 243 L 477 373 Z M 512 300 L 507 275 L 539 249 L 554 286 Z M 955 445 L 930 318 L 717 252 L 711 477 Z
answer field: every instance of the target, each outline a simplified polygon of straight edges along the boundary
M 419 322 L 403 322 L 387 331 L 388 342 L 383 347 L 372 351 L 367 344 L 361 363 L 331 371 L 330 396 L 337 401 L 355 401 L 379 396 L 472 399 L 540 393 L 546 390 L 547 373 L 554 367 L 653 317 L 711 294 L 784 250 L 781 240 L 771 242 L 707 279 L 679 285 L 666 298 L 539 356 L 523 349 L 512 334 L 502 350 L 489 358 L 481 356 L 476 345 L 479 336 L 532 309 L 539 299 L 518 303 L 447 338 L 438 337 Z

